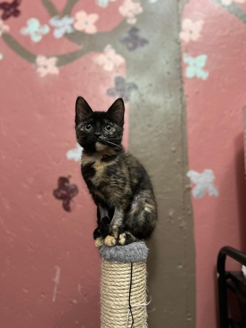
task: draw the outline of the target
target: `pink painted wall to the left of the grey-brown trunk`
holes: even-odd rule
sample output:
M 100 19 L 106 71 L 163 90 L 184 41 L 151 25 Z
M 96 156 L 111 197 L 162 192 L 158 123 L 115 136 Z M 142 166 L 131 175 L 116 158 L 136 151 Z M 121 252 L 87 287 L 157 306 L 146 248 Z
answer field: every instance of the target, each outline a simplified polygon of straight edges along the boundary
M 53 2 L 58 9 L 65 4 Z M 97 12 L 98 29 L 107 30 L 122 20 L 117 12 L 112 18 L 115 8 L 112 3 L 103 11 L 87 0 L 74 12 Z M 38 17 L 44 24 L 50 15 L 41 1 L 23 1 L 20 10 L 18 18 L 10 17 L 5 24 L 28 51 L 48 56 L 79 48 L 65 38 L 55 39 L 53 28 L 38 43 L 21 35 L 27 19 Z M 76 148 L 76 97 L 83 95 L 92 109 L 108 109 L 114 98 L 107 89 L 114 85 L 115 76 L 125 76 L 125 63 L 108 72 L 90 53 L 59 68 L 59 74 L 40 77 L 37 67 L 1 38 L 0 50 L 0 326 L 98 327 L 100 259 L 92 238 L 96 208 L 82 180 L 80 162 L 67 159 L 66 153 Z M 127 106 L 125 118 L 126 146 Z M 79 190 L 71 213 L 53 196 L 58 178 L 68 174 Z

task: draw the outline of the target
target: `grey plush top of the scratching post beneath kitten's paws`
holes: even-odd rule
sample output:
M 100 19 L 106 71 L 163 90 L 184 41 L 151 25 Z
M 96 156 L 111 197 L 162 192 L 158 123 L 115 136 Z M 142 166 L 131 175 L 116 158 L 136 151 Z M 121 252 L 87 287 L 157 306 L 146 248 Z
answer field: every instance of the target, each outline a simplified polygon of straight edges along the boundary
M 139 262 L 147 260 L 148 248 L 142 240 L 129 245 L 116 245 L 108 247 L 103 245 L 99 248 L 101 258 L 110 262 Z

